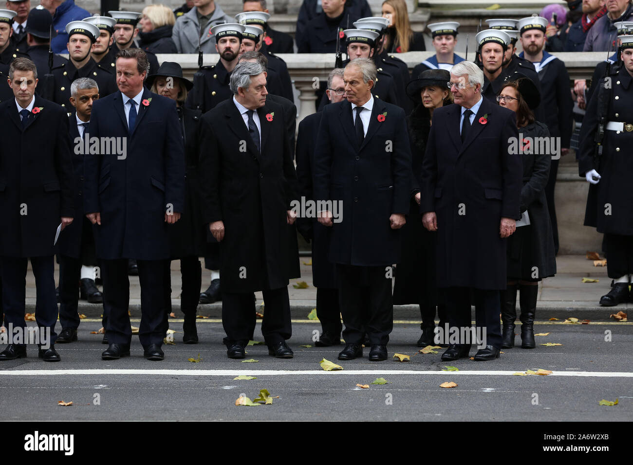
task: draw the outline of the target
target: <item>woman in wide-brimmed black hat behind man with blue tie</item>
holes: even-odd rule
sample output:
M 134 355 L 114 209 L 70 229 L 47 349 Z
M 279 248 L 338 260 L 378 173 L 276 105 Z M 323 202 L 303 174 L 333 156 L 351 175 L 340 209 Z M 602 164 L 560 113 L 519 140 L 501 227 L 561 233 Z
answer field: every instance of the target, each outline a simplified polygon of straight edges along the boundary
M 180 294 L 180 308 L 185 315 L 182 325 L 185 344 L 198 342 L 196 330 L 196 311 L 202 285 L 202 268 L 199 256 L 204 255 L 206 236 L 201 221 L 200 194 L 198 172 L 198 133 L 201 111 L 184 108 L 187 92 L 193 84 L 182 77 L 182 68 L 178 63 L 165 61 L 155 75 L 147 77 L 147 83 L 152 92 L 176 101 L 180 130 L 185 144 L 185 204 L 180 220 L 170 226 L 170 257 L 180 259 L 180 273 L 182 274 L 182 293 Z M 166 283 L 170 283 L 170 261 L 165 266 Z M 172 308 L 171 284 L 166 286 L 165 304 L 167 313 Z

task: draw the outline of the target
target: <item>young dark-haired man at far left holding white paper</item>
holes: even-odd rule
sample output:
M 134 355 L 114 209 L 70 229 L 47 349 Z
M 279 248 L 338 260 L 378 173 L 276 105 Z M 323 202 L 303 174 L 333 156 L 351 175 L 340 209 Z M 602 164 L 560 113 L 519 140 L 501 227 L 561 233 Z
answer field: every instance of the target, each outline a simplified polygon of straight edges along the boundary
M 9 85 L 15 98 L 0 104 L 0 210 L 4 215 L 0 272 L 5 321 L 9 332 L 23 331 L 26 326 L 25 280 L 30 259 L 37 287 L 39 357 L 55 362 L 60 356 L 53 345 L 57 321 L 53 256 L 58 228 L 70 225 L 75 213 L 68 117 L 61 106 L 34 96 L 37 68 L 30 59 L 13 60 Z M 17 336 L 9 334 L 9 338 Z M 27 356 L 27 341 L 13 340 L 0 353 L 0 360 Z

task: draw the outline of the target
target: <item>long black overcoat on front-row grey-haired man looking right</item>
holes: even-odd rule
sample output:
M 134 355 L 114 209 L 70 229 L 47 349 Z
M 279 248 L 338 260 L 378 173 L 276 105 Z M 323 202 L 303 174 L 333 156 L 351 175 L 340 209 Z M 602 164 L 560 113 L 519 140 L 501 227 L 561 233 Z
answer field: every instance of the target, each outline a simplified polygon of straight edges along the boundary
M 277 289 L 289 281 L 286 211 L 297 197 L 284 109 L 267 101 L 257 114 L 261 154 L 233 99 L 220 102 L 202 117 L 203 220 L 224 223 L 223 292 Z

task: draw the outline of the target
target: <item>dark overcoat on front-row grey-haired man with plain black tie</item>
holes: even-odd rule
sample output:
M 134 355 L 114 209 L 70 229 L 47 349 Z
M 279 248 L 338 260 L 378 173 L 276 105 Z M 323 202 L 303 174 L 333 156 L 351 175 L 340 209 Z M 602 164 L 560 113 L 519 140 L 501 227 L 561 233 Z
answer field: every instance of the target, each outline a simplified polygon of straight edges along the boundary
M 342 202 L 342 221 L 332 226 L 330 261 L 358 266 L 398 263 L 401 235 L 391 229 L 389 217 L 408 213 L 411 192 L 411 151 L 403 109 L 374 99 L 360 147 L 351 103 L 327 105 L 322 113 L 314 195 L 317 201 Z M 384 121 L 379 121 L 385 113 Z

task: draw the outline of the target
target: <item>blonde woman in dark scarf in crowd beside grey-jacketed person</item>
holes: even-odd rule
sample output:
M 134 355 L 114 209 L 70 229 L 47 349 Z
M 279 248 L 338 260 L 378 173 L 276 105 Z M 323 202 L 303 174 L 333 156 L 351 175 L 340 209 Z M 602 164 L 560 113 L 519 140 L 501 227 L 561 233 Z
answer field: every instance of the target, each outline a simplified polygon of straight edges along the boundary
M 139 20 L 139 47 L 151 53 L 178 53 L 172 39 L 175 18 L 165 5 L 149 5 Z

